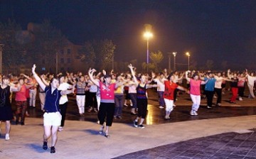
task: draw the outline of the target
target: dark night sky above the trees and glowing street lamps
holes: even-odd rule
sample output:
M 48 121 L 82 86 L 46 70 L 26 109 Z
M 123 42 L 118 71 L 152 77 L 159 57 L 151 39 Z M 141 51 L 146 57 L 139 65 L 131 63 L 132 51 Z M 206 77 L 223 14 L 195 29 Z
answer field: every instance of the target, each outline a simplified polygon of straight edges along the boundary
M 213 60 L 220 68 L 226 60 L 230 67 L 256 69 L 255 0 L 0 0 L 0 21 L 8 18 L 24 29 L 50 19 L 75 44 L 108 38 L 117 45 L 115 60 L 141 62 L 146 61 L 144 23 L 150 23 L 149 49 L 164 53 L 166 67 L 166 53 L 176 51 L 176 61 L 186 63 L 189 51 L 198 67 Z

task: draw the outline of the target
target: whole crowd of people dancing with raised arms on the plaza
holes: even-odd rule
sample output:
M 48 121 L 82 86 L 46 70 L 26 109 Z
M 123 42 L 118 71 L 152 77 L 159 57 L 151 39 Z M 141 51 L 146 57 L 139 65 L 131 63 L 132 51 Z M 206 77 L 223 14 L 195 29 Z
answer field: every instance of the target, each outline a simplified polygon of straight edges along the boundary
M 186 92 L 191 97 L 191 116 L 198 116 L 201 97 L 207 99 L 207 108 L 213 108 L 213 98 L 217 98 L 215 106 L 221 106 L 222 95 L 228 89 L 232 92 L 230 104 L 236 100 L 242 101 L 245 96 L 245 84 L 249 89 L 249 98 L 255 98 L 254 73 L 244 72 L 152 72 L 142 74 L 132 65 L 128 65 L 129 72 L 116 73 L 105 70 L 88 70 L 59 75 L 38 75 L 36 65 L 32 67 L 31 75 L 19 76 L 1 75 L 0 87 L 0 124 L 6 123 L 5 139 L 10 139 L 11 120 L 15 124 L 25 125 L 28 107 L 36 107 L 36 94 L 40 99 L 43 114 L 43 149 L 48 149 L 48 138 L 51 136 L 50 153 L 55 153 L 58 131 L 64 130 L 65 114 L 68 107 L 67 94 L 74 94 L 78 113 L 85 116 L 85 111 L 97 112 L 100 134 L 110 137 L 110 127 L 113 119 L 122 119 L 122 106 L 132 106 L 131 114 L 136 128 L 145 128 L 144 119 L 147 113 L 147 89 L 155 87 L 159 97 L 159 109 L 166 110 L 164 119 L 170 119 L 174 110 L 177 94 Z M 13 93 L 15 92 L 15 93 Z M 15 95 L 15 97 L 13 97 Z M 16 111 L 11 109 L 12 99 L 15 100 Z M 87 109 L 85 109 L 87 107 Z M 1 125 L 0 125 L 1 128 Z M 0 129 L 1 135 L 1 129 Z

